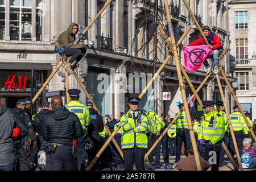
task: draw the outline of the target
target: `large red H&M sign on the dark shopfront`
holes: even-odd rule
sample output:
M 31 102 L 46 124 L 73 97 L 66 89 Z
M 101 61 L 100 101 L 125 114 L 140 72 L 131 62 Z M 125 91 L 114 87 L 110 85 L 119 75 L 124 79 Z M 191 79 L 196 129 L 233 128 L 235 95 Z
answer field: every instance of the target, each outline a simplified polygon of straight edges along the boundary
M 8 86 L 8 90 L 17 90 L 19 88 L 19 90 L 26 90 L 26 84 L 27 84 L 27 75 L 24 76 L 23 80 L 22 80 L 22 76 L 20 75 L 18 78 L 18 81 L 15 82 L 15 77 L 16 75 L 14 75 L 13 77 L 11 77 L 11 75 L 9 75 L 7 81 L 5 82 L 5 89 L 6 90 L 7 86 Z M 10 80 L 11 78 L 11 80 Z

